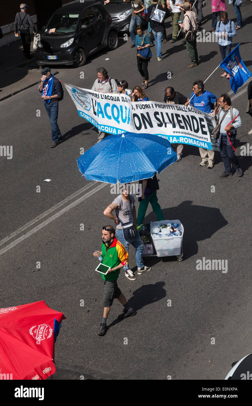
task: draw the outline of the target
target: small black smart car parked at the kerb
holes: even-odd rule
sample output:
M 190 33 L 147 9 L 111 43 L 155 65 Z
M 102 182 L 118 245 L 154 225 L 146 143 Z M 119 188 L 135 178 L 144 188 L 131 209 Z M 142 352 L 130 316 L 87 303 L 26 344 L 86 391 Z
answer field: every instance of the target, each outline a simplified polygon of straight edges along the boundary
M 56 10 L 44 28 L 38 48 L 38 65 L 83 66 L 87 56 L 108 47 L 114 50 L 118 35 L 110 14 L 98 1 L 66 4 Z

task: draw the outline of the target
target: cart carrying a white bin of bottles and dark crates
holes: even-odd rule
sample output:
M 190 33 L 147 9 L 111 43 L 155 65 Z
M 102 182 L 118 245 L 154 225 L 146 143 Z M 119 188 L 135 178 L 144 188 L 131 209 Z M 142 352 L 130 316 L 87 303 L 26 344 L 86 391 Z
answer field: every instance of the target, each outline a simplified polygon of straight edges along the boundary
M 144 243 L 142 257 L 171 257 L 183 259 L 184 227 L 180 220 L 152 221 L 138 226 L 140 238 Z

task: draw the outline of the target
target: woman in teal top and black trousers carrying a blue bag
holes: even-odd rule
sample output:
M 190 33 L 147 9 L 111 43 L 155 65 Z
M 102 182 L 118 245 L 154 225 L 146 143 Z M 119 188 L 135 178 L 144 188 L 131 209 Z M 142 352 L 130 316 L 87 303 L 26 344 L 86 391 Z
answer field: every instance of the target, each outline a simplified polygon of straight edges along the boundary
M 137 26 L 136 28 L 136 49 L 137 53 L 139 51 L 149 48 L 150 47 L 150 38 L 148 34 L 144 34 L 144 30 L 142 26 Z M 150 58 L 148 59 L 142 59 L 140 56 L 137 56 L 137 62 L 138 62 L 138 71 L 140 72 L 140 75 L 143 78 L 142 84 L 144 87 L 142 89 L 147 89 L 148 87 L 148 79 L 149 79 L 149 73 L 148 73 L 148 62 L 150 61 Z

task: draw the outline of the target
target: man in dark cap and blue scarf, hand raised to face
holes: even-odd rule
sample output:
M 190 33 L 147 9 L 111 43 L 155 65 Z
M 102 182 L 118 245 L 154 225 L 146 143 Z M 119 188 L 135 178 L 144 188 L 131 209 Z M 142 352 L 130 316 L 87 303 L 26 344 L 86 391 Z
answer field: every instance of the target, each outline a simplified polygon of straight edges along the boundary
M 40 93 L 42 93 L 41 97 L 44 100 L 44 107 L 50 119 L 53 140 L 51 148 L 54 148 L 57 147 L 58 142 L 62 140 L 62 135 L 57 124 L 59 111 L 59 102 L 57 99 L 61 97 L 61 85 L 59 80 L 51 74 L 49 67 L 45 67 L 40 73 L 42 73 L 43 76 L 38 89 Z

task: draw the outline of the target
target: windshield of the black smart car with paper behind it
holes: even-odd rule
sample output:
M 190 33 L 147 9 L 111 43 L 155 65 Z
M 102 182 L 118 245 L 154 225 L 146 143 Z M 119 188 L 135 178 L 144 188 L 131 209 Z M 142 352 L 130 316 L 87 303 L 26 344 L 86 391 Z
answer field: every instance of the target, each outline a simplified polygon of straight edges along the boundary
M 79 13 L 53 14 L 44 34 L 73 34 L 76 30 Z

